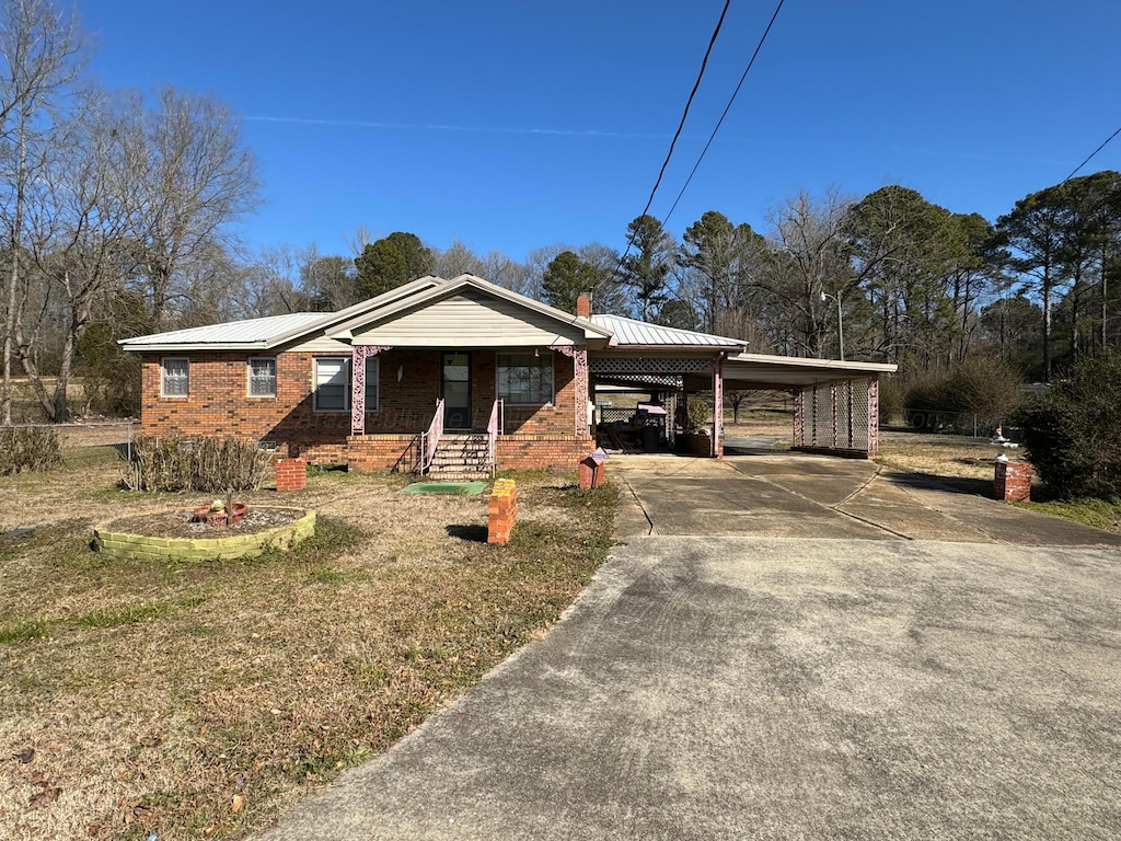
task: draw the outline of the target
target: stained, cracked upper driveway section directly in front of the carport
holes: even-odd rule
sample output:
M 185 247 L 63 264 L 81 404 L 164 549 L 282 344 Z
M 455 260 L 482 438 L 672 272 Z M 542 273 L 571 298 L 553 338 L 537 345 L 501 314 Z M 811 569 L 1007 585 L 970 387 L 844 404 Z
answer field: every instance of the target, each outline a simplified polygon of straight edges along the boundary
M 807 453 L 612 459 L 622 535 L 952 540 L 1117 546 L 1121 535 L 949 490 L 870 461 Z

